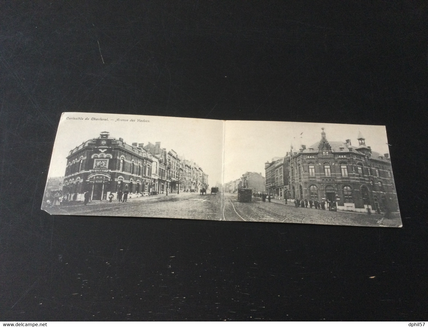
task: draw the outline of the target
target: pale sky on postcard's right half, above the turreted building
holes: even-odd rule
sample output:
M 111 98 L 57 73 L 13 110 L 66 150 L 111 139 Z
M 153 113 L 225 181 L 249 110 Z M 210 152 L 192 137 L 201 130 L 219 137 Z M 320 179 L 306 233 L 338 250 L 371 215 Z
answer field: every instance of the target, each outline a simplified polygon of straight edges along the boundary
M 229 120 L 225 127 L 225 182 L 241 177 L 246 171 L 265 176 L 266 161 L 285 156 L 292 143 L 298 150 L 301 144 L 309 148 L 319 142 L 321 127 L 328 141 L 351 139 L 351 144 L 357 146 L 361 131 L 373 151 L 389 153 L 385 126 Z

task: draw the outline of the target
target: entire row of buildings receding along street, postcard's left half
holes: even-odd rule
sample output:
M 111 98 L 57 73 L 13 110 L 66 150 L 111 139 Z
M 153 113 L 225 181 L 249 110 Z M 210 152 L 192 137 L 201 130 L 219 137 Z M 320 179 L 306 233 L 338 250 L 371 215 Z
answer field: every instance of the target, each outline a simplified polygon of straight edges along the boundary
M 127 144 L 122 138 L 101 132 L 74 149 L 67 156 L 62 193 L 67 201 L 107 200 L 110 192 L 128 190 L 128 198 L 199 192 L 208 187 L 208 175 L 199 165 L 185 160 L 174 150 L 155 144 Z

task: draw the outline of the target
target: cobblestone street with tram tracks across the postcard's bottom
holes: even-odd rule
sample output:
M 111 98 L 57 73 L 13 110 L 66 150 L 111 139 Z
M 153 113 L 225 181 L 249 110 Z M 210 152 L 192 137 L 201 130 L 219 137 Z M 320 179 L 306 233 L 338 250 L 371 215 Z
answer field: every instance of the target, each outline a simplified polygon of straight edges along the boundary
M 199 193 L 181 193 L 157 195 L 128 199 L 122 203 L 89 202 L 65 205 L 50 209 L 53 214 L 89 215 L 89 216 L 130 216 L 187 218 L 249 222 L 291 222 L 327 225 L 388 226 L 401 225 L 398 213 L 368 215 L 343 211 L 295 208 L 283 201 L 262 202 L 253 198 L 252 202 L 241 203 L 236 194 L 199 195 Z

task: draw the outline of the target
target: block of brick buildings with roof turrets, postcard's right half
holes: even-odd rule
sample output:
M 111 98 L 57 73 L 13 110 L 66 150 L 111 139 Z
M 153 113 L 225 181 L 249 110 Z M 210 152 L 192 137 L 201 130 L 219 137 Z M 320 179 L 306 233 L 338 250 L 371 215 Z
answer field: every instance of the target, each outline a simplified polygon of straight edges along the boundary
M 315 144 L 291 146 L 286 156 L 266 162 L 266 192 L 291 201 L 334 203 L 339 210 L 397 211 L 389 154 L 373 151 L 361 132 L 357 141 L 328 141 L 323 128 Z

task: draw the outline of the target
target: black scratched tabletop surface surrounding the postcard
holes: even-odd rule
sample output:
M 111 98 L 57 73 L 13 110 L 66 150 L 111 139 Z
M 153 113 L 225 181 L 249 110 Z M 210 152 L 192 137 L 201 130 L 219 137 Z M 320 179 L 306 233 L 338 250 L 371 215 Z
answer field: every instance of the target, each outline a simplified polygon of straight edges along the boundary
M 425 1 L 1 3 L 0 320 L 426 318 Z M 404 227 L 49 216 L 62 111 L 386 125 Z

